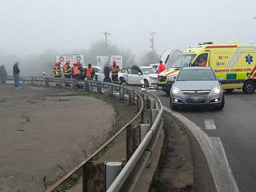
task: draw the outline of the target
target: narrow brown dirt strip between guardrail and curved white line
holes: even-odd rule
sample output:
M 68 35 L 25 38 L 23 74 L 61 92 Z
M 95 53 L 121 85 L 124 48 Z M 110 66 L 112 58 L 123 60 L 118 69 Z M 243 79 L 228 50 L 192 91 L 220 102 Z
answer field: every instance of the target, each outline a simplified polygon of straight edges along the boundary
M 194 174 L 192 149 L 185 126 L 164 115 L 164 146 L 152 191 L 192 192 Z

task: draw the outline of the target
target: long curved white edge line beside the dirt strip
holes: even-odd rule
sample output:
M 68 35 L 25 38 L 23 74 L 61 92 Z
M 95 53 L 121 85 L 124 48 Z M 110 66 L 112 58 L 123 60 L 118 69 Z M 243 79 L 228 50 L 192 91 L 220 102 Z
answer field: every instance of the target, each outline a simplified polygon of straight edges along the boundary
M 203 132 L 194 122 L 190 121 L 184 115 L 171 111 L 164 107 L 164 111 L 175 116 L 184 123 L 190 132 L 195 136 L 197 142 L 206 156 L 209 170 L 213 175 L 213 180 L 217 192 L 239 192 L 237 182 L 234 179 L 232 170 L 227 160 L 225 150 L 219 137 L 209 137 L 206 132 Z

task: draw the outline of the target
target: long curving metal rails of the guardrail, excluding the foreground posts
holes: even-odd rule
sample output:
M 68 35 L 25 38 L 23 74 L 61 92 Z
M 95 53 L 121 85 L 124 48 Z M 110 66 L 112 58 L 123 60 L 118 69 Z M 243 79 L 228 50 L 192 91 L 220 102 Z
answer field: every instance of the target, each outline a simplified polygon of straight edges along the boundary
M 105 149 L 116 137 L 123 132 L 125 129 L 129 129 L 130 125 L 132 125 L 135 121 L 140 121 L 142 124 L 149 123 L 150 129 L 147 134 L 144 136 L 144 139 L 141 140 L 140 145 L 137 149 L 130 155 L 130 159 L 128 160 L 126 165 L 123 167 L 123 170 L 116 177 L 116 180 L 113 181 L 112 185 L 107 190 L 108 192 L 117 192 L 117 191 L 132 191 L 133 187 L 137 183 L 139 179 L 140 173 L 144 170 L 144 167 L 137 167 L 137 174 L 131 176 L 131 173 L 134 171 L 134 167 L 138 164 L 139 159 L 143 156 L 146 148 L 147 151 L 153 150 L 154 145 L 157 142 L 157 138 L 159 135 L 159 130 L 163 125 L 163 120 L 161 115 L 163 113 L 163 107 L 161 105 L 161 101 L 158 98 L 155 98 L 154 94 L 150 94 L 147 92 L 133 91 L 130 88 L 120 86 L 118 84 L 110 84 L 99 81 L 80 81 L 74 79 L 64 79 L 64 78 L 53 78 L 53 77 L 20 77 L 20 81 L 29 82 L 29 84 L 43 83 L 46 86 L 50 86 L 50 84 L 54 83 L 54 86 L 63 87 L 63 84 L 71 84 L 73 88 L 80 86 L 85 88 L 86 91 L 97 91 L 102 93 L 102 90 L 105 90 L 109 96 L 119 95 L 120 99 L 125 99 L 128 94 L 128 100 L 130 105 L 137 105 L 137 114 L 128 122 L 123 128 L 119 129 L 112 137 L 106 141 L 99 149 L 96 149 L 92 155 L 88 156 L 81 163 L 74 167 L 69 173 L 67 173 L 60 180 L 57 180 L 52 186 L 47 188 L 46 192 L 54 192 L 58 191 L 57 188 L 61 186 L 61 184 L 65 183 L 65 181 L 69 180 L 74 173 L 77 173 L 79 170 L 83 170 L 83 167 L 88 163 L 93 157 L 95 157 L 102 149 Z M 8 81 L 13 81 L 13 77 L 8 77 Z M 96 89 L 95 89 L 96 87 Z M 114 93 L 116 91 L 116 93 Z M 126 95 L 125 95 L 126 94 Z M 149 113 L 148 113 L 149 111 Z M 126 143 L 127 145 L 127 143 Z M 144 158 L 144 162 L 147 162 L 150 158 L 150 154 Z M 141 160 L 140 160 L 141 161 Z M 141 162 L 140 162 L 141 163 Z M 145 165 L 146 163 L 144 163 Z M 83 170 L 83 177 L 86 177 L 86 173 Z M 132 178 L 133 177 L 133 178 Z M 84 179 L 83 179 L 84 181 Z M 127 185 L 129 187 L 127 187 Z M 85 185 L 83 183 L 83 192 L 85 190 Z M 123 187 L 123 188 L 122 188 Z

